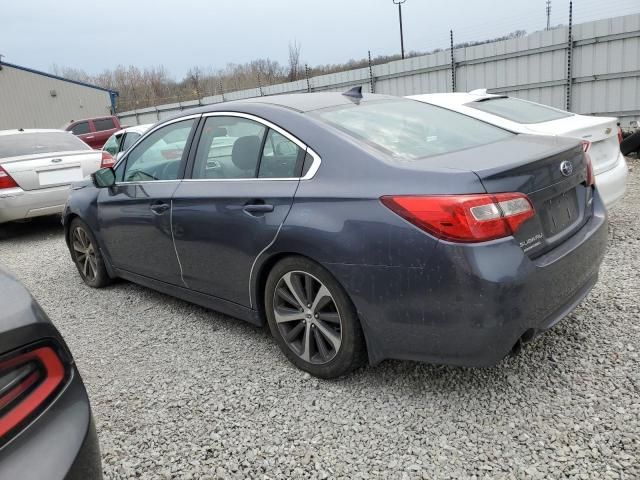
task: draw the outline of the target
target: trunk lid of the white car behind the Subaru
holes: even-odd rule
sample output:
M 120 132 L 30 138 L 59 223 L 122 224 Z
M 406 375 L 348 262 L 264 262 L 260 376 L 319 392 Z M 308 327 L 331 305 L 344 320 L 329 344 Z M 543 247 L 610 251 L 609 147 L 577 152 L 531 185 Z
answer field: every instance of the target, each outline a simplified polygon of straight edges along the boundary
M 591 142 L 589 156 L 596 175 L 615 167 L 620 156 L 618 119 L 572 115 L 550 122 L 527 125 L 532 133 L 561 135 Z

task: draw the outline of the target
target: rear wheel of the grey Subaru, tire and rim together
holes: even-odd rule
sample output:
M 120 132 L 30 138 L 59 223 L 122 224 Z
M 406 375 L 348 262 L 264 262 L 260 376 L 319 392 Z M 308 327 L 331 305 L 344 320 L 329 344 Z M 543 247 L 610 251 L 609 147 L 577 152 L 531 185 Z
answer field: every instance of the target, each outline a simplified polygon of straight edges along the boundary
M 287 257 L 269 273 L 265 313 L 271 334 L 296 367 L 320 378 L 365 363 L 364 335 L 347 292 L 323 267 Z

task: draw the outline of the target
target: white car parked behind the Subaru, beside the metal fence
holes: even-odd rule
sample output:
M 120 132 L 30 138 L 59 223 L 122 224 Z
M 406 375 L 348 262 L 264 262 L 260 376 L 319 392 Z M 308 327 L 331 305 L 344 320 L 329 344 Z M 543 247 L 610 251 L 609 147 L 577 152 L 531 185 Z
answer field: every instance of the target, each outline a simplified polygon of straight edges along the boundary
M 596 186 L 606 207 L 611 208 L 624 196 L 628 169 L 620 153 L 620 130 L 616 118 L 577 115 L 519 98 L 489 94 L 486 90 L 407 98 L 464 113 L 516 133 L 583 140 L 593 164 Z

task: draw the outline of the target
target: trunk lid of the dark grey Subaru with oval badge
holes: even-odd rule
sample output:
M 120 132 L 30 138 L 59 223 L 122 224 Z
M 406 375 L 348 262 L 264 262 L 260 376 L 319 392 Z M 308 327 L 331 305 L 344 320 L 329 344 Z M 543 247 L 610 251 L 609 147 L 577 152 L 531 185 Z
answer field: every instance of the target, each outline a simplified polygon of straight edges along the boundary
M 568 163 L 563 173 L 564 162 Z M 536 214 L 522 224 L 515 238 L 532 258 L 569 238 L 592 214 L 593 188 L 586 185 L 587 161 L 575 139 L 514 135 L 420 163 L 427 168 L 437 165 L 471 170 L 487 193 L 526 194 Z

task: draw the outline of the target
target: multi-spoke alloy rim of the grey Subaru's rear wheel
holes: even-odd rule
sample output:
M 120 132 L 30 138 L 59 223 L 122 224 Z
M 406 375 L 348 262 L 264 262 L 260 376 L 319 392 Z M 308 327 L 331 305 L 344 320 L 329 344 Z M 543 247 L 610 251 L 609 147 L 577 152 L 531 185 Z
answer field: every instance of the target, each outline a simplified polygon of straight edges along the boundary
M 329 289 L 306 272 L 287 272 L 273 295 L 273 312 L 287 346 L 302 360 L 330 362 L 342 344 L 342 319 Z

